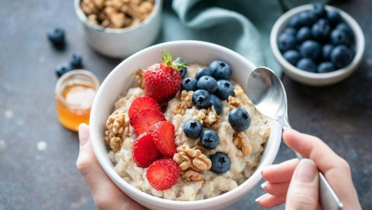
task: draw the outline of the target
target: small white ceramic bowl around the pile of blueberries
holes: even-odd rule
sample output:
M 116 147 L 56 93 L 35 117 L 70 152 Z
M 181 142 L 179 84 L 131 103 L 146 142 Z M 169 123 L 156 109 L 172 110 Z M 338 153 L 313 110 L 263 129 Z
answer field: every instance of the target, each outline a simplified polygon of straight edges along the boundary
M 273 54 L 278 60 L 279 64 L 282 66 L 284 72 L 288 77 L 292 78 L 293 80 L 298 81 L 299 83 L 307 84 L 307 85 L 314 85 L 314 86 L 323 86 L 323 85 L 330 85 L 340 82 L 345 78 L 349 77 L 359 66 L 360 61 L 362 60 L 364 48 L 365 48 L 365 40 L 363 31 L 360 28 L 359 24 L 346 12 L 332 6 L 325 6 L 326 10 L 336 10 L 340 13 L 341 17 L 344 21 L 350 26 L 355 34 L 355 56 L 352 62 L 347 65 L 346 67 L 336 70 L 333 72 L 328 73 L 313 73 L 301 70 L 296 68 L 294 65 L 290 64 L 286 59 L 284 59 L 282 53 L 279 51 L 278 47 L 278 35 L 286 28 L 288 25 L 289 19 L 295 14 L 298 14 L 305 10 L 310 10 L 312 8 L 311 4 L 306 4 L 302 6 L 295 7 L 288 12 L 284 13 L 282 16 L 276 20 L 270 34 L 270 46 L 273 51 Z

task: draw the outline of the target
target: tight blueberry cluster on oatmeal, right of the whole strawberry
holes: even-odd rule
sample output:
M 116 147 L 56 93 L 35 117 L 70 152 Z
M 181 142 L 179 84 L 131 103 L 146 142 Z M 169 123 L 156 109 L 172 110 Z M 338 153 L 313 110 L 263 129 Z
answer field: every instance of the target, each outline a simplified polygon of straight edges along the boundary
M 181 90 L 194 91 L 192 103 L 198 109 L 214 106 L 219 115 L 222 112 L 221 100 L 235 96 L 234 85 L 229 81 L 231 73 L 231 67 L 227 62 L 212 61 L 208 68 L 199 69 L 195 73 L 195 78 L 183 79 Z

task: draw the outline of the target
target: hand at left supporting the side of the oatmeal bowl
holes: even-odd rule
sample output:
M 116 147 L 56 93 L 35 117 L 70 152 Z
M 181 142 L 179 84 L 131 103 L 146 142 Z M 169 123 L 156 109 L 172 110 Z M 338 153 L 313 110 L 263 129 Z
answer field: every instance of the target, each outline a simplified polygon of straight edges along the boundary
M 146 210 L 126 196 L 106 175 L 94 155 L 89 126 L 79 126 L 80 150 L 76 166 L 83 175 L 99 210 Z

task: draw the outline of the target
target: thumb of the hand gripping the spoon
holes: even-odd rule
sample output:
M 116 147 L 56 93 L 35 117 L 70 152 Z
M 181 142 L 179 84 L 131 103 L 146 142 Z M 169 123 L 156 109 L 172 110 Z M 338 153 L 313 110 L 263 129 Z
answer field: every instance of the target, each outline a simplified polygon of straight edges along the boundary
M 318 207 L 318 168 L 311 159 L 301 159 L 289 184 L 286 210 L 316 210 Z

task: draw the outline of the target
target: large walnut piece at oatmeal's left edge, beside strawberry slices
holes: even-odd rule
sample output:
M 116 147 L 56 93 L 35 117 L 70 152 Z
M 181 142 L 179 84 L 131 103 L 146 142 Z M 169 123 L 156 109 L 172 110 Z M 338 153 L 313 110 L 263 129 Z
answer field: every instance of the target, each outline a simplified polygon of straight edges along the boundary
M 125 136 L 129 135 L 129 117 L 122 110 L 113 112 L 106 122 L 105 142 L 112 151 L 117 152 L 123 145 Z

